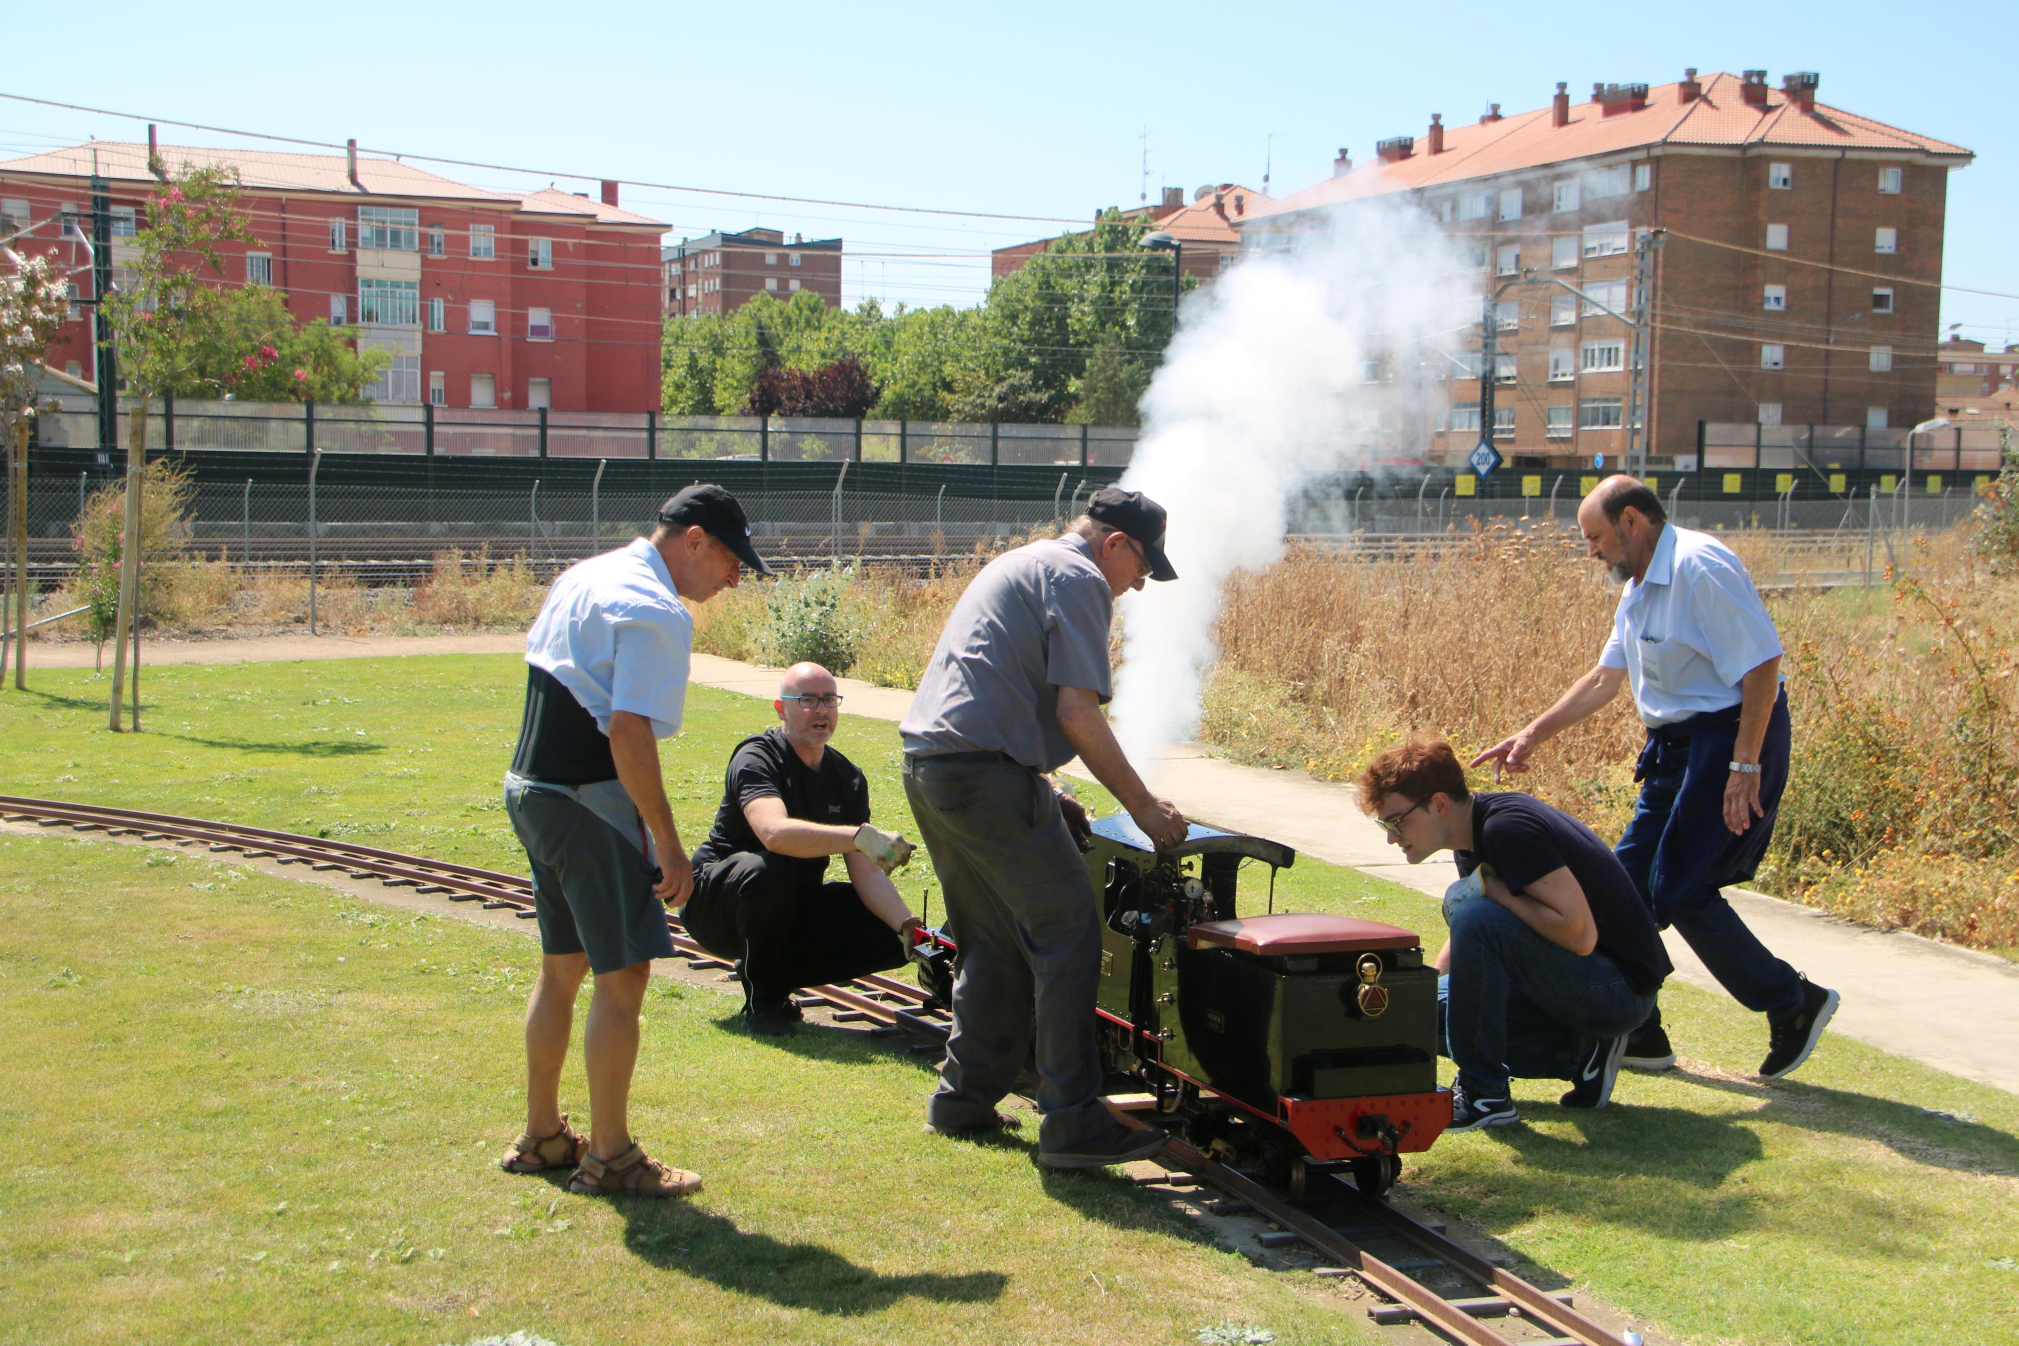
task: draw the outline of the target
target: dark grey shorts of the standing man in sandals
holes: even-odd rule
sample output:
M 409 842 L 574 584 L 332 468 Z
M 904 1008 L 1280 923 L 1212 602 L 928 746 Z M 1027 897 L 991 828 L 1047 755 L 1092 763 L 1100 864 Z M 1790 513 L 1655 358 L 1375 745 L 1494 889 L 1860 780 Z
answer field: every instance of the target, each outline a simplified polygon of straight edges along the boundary
M 505 813 L 533 864 L 541 952 L 586 952 L 598 975 L 672 957 L 666 904 L 652 896 L 658 868 L 634 842 L 543 789 L 507 791 Z

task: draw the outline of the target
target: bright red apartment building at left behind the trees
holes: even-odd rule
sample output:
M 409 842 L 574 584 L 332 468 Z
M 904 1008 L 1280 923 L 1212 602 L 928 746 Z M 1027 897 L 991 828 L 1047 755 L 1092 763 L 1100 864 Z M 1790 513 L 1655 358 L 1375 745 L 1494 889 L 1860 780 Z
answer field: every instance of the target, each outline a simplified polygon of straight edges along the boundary
M 113 264 L 131 258 L 162 174 L 238 170 L 258 242 L 232 242 L 226 285 L 273 285 L 297 321 L 325 319 L 394 351 L 376 402 L 448 408 L 658 410 L 658 240 L 666 226 L 602 200 L 501 196 L 410 163 L 93 141 L 0 161 L 0 236 L 83 262 L 67 220 L 91 232 L 91 176 L 109 184 Z M 73 256 L 75 254 L 75 256 Z M 79 276 L 89 295 L 91 274 Z M 83 313 L 83 311 L 79 311 Z M 93 377 L 89 321 L 63 329 L 57 369 Z

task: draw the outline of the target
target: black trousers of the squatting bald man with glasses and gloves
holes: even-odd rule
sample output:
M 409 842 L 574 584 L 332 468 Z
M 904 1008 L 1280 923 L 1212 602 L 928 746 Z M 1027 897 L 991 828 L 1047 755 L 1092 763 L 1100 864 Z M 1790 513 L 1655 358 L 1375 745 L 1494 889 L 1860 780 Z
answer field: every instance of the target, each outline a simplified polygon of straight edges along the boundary
M 800 987 L 905 965 L 896 932 L 852 884 L 808 884 L 802 862 L 737 852 L 695 874 L 680 920 L 717 959 L 743 963 L 743 1003 L 773 1009 Z

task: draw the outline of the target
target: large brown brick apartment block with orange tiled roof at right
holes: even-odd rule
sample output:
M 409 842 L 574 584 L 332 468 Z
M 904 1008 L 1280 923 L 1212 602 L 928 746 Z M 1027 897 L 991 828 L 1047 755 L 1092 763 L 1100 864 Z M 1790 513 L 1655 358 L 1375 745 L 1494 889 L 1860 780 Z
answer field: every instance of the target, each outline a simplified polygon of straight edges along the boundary
M 1250 248 L 1407 192 L 1450 228 L 1498 307 L 1494 442 L 1520 466 L 1625 452 L 1635 246 L 1654 254 L 1650 466 L 1684 466 L 1698 422 L 1906 428 L 1934 416 L 1942 220 L 1971 151 L 1817 103 L 1817 77 L 1686 71 L 1474 125 L 1431 115 L 1329 182 L 1264 202 Z M 1532 270 L 1530 278 L 1528 272 Z M 1589 299 L 1567 293 L 1565 281 Z M 1478 345 L 1470 347 L 1474 357 Z M 1476 363 L 1476 361 L 1474 361 Z M 1446 367 L 1429 456 L 1480 438 L 1478 369 Z

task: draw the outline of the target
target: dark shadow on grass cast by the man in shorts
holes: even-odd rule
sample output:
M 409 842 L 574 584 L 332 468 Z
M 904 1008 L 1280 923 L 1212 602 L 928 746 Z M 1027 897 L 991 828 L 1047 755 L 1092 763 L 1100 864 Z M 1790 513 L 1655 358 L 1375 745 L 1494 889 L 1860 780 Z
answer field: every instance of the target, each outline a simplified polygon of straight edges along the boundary
M 654 1267 L 699 1275 L 721 1289 L 838 1318 L 874 1314 L 898 1300 L 983 1304 L 1010 1285 L 1003 1271 L 884 1275 L 818 1243 L 787 1243 L 739 1229 L 727 1215 L 684 1203 L 626 1199 L 624 1247 Z

